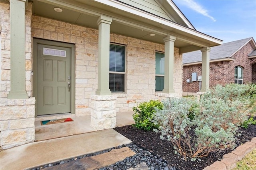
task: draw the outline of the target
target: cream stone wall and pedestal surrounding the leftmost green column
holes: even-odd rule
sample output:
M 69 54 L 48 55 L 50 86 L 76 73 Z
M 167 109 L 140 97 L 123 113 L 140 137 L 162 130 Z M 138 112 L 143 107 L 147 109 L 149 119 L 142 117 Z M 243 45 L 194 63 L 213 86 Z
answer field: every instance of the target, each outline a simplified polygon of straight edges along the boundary
M 35 140 L 35 98 L 32 96 L 31 16 L 32 5 L 26 8 L 26 91 L 28 99 L 9 100 L 10 91 L 10 5 L 0 3 L 1 90 L 0 149 L 8 149 Z

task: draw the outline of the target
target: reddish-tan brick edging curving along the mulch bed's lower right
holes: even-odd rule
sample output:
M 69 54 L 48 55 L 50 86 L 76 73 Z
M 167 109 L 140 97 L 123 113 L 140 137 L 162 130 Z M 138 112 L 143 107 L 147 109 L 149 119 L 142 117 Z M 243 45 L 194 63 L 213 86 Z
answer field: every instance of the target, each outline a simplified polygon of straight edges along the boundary
M 203 170 L 232 170 L 236 168 L 236 162 L 242 160 L 244 156 L 256 148 L 256 137 L 252 138 L 250 142 L 246 142 L 235 150 L 222 156 L 222 160 L 216 161 L 210 166 L 206 166 Z M 225 165 L 225 166 L 224 166 Z

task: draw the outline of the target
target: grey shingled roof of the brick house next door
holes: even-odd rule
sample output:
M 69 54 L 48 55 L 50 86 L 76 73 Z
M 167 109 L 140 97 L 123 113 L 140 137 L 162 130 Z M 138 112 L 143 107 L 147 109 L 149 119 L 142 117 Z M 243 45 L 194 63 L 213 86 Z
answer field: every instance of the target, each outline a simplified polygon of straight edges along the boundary
M 240 39 L 237 41 L 232 41 L 229 43 L 223 43 L 223 45 L 212 47 L 210 51 L 210 60 L 217 60 L 217 59 L 233 60 L 232 56 L 249 42 L 253 45 L 254 49 L 256 49 L 255 41 L 252 37 L 246 38 L 246 39 Z M 197 63 L 200 63 L 201 61 L 202 61 L 202 52 L 200 50 L 183 54 L 182 63 L 185 65 L 197 64 Z

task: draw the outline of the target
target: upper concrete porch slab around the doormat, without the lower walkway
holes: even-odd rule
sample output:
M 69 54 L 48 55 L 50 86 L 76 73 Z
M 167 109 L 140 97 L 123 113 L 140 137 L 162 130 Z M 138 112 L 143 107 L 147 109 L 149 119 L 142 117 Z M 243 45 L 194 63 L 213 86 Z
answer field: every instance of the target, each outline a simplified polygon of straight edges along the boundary
M 116 127 L 133 124 L 133 113 L 133 111 L 116 113 Z M 69 115 L 66 115 L 65 117 L 69 117 Z M 52 117 L 36 118 L 36 141 L 43 141 L 47 139 L 54 139 L 58 137 L 66 137 L 70 135 L 78 135 L 82 133 L 97 131 L 96 129 L 90 126 L 90 115 L 71 118 L 74 121 L 66 123 L 56 123 L 51 125 L 41 125 L 40 121 L 43 119 L 49 120 L 52 119 Z

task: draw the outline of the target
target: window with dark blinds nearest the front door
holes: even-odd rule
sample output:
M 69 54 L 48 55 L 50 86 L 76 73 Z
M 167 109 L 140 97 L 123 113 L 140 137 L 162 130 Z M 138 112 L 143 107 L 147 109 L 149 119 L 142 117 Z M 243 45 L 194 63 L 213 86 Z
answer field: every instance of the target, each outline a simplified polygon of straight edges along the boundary
M 110 44 L 109 88 L 111 92 L 124 92 L 125 47 Z

